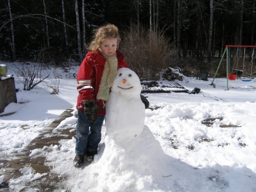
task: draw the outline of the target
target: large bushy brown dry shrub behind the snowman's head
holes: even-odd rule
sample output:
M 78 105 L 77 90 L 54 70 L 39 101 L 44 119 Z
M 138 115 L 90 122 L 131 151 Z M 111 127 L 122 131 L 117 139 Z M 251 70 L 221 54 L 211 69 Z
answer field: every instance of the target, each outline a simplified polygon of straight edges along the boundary
M 142 80 L 158 80 L 161 70 L 168 67 L 170 56 L 176 54 L 163 33 L 137 27 L 131 27 L 120 47 L 129 68 Z

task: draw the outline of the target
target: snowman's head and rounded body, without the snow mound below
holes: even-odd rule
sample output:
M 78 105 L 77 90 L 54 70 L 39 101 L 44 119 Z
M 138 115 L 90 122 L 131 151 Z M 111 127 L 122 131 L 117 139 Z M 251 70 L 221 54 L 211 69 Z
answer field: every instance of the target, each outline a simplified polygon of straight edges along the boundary
M 140 98 L 142 86 L 137 74 L 121 68 L 106 102 L 106 133 L 117 143 L 139 136 L 144 127 L 145 106 Z

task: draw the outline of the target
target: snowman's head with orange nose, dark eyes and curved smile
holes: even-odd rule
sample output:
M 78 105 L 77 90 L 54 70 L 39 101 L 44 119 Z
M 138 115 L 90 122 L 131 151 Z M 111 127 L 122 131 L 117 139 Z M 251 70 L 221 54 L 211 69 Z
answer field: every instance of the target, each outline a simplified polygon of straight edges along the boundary
M 138 95 L 140 96 L 142 86 L 138 75 L 128 68 L 121 68 L 117 71 L 117 75 L 111 87 L 111 93 L 125 95 L 126 97 Z

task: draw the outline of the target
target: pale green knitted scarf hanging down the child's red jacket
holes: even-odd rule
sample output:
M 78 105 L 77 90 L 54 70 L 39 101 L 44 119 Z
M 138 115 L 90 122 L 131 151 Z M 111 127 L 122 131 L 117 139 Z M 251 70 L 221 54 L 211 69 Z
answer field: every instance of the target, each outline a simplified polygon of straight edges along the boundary
M 110 88 L 113 84 L 114 78 L 117 74 L 117 57 L 116 54 L 113 56 L 106 57 L 105 67 L 100 80 L 99 91 L 97 94 L 97 100 L 107 101 L 110 95 Z

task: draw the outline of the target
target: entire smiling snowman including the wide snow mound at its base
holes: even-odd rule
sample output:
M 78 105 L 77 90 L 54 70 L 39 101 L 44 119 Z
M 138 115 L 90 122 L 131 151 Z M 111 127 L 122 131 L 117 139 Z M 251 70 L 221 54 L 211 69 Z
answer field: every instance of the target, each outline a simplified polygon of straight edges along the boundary
M 134 71 L 127 68 L 117 71 L 106 102 L 104 144 L 95 156 L 98 162 L 95 166 L 102 172 L 97 178 L 99 183 L 105 182 L 112 173 L 115 176 L 112 175 L 106 185 L 120 183 L 119 179 L 123 177 L 133 181 L 127 188 L 136 189 L 129 191 L 138 191 L 147 182 L 155 183 L 156 188 L 169 182 L 167 177 L 163 179 L 163 176 L 170 175 L 168 157 L 144 124 L 145 105 L 140 98 L 141 89 Z M 145 179 L 148 177 L 151 179 Z

